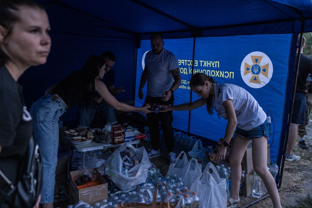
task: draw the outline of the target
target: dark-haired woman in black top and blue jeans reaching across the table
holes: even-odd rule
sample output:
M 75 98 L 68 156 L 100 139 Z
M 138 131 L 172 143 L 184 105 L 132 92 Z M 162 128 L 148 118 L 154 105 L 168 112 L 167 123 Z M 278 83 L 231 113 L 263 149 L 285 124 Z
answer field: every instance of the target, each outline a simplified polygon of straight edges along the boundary
M 91 55 L 84 69 L 74 71 L 58 83 L 54 89 L 38 99 L 30 109 L 33 117 L 35 139 L 41 148 L 43 160 L 43 185 L 41 202 L 43 207 L 53 207 L 55 169 L 59 143 L 58 121 L 60 116 L 74 105 L 90 99 L 95 91 L 111 106 L 121 111 L 149 113 L 148 107 L 134 107 L 118 102 L 110 94 L 102 79 L 105 74 L 105 61 Z

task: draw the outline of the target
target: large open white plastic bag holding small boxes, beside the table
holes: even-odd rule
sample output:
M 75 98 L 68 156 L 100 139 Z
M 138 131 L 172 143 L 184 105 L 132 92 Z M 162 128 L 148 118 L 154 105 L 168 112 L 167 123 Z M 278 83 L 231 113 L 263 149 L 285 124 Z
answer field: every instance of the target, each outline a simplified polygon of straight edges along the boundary
M 141 154 L 142 161 L 138 165 L 129 169 L 129 171 L 122 171 L 120 152 L 126 151 L 127 148 L 130 148 L 130 151 L 134 151 L 135 154 Z M 104 172 L 119 189 L 128 192 L 134 189 L 136 185 L 146 181 L 148 168 L 150 166 L 151 162 L 149 161 L 149 157 L 147 157 L 147 152 L 144 147 L 136 149 L 131 144 L 125 143 L 107 159 Z

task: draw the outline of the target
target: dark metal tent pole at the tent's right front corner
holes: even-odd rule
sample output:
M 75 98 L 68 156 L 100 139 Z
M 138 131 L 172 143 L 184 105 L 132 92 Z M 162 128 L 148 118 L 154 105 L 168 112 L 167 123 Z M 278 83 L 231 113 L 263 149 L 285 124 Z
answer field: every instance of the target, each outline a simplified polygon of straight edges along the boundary
M 299 46 L 298 46 L 298 56 L 297 56 L 296 65 L 295 65 L 295 77 L 294 77 L 293 89 L 292 89 L 292 94 L 291 94 L 289 118 L 288 118 L 288 124 L 287 124 L 287 129 L 286 129 L 285 146 L 284 146 L 284 152 L 283 152 L 283 158 L 282 158 L 282 166 L 280 168 L 280 178 L 279 178 L 278 188 L 281 187 L 282 180 L 283 180 L 287 143 L 288 143 L 290 123 L 291 123 L 292 112 L 293 112 L 293 107 L 294 107 L 295 91 L 296 91 L 296 84 L 297 84 L 298 71 L 299 71 L 299 62 L 300 62 L 300 54 L 301 54 L 300 51 L 301 51 L 301 47 L 302 47 L 301 45 L 302 45 L 302 40 L 303 40 L 303 32 L 304 32 L 304 28 L 305 28 L 305 19 L 304 19 L 303 15 L 299 11 L 297 11 L 296 9 L 294 9 L 292 7 L 290 7 L 290 8 L 293 9 L 297 14 L 300 15 L 301 29 L 300 29 L 300 41 L 299 41 Z

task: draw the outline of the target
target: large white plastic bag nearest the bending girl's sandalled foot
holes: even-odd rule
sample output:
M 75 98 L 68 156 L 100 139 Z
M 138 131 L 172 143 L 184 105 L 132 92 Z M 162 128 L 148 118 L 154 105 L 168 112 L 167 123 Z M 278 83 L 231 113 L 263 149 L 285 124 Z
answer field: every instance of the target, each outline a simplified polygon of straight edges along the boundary
M 217 169 L 209 162 L 204 172 L 191 185 L 190 192 L 197 192 L 201 208 L 225 208 L 227 207 L 226 187 L 225 179 L 219 177 Z

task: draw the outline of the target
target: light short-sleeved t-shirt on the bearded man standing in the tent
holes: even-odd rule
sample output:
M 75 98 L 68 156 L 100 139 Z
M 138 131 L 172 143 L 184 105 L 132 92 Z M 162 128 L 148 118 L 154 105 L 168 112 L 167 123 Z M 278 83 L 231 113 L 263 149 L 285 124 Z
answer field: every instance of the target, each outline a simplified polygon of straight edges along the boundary
M 161 97 L 162 94 L 170 89 L 173 84 L 171 70 L 179 68 L 178 59 L 167 49 L 155 55 L 153 51 L 147 52 L 145 66 L 149 72 L 147 76 L 147 95 L 152 97 Z

